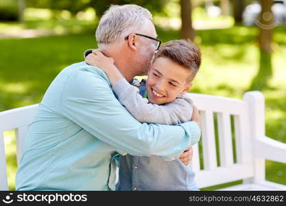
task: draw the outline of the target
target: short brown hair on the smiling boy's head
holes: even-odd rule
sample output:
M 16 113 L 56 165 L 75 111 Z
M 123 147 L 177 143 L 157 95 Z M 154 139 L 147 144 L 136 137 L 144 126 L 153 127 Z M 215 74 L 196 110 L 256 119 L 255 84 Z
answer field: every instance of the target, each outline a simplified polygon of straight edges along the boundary
M 168 41 L 160 47 L 155 60 L 159 57 L 169 58 L 169 60 L 178 63 L 178 65 L 193 71 L 188 78 L 190 82 L 195 78 L 195 74 L 198 72 L 202 61 L 199 47 L 191 41 L 186 40 Z

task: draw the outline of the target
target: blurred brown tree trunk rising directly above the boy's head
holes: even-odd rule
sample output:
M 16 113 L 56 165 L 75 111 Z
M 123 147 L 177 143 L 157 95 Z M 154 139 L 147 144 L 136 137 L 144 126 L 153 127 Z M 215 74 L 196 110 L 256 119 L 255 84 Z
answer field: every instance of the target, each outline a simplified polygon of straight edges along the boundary
M 195 31 L 191 23 L 191 0 L 180 0 L 182 27 L 180 38 L 190 39 L 195 38 Z

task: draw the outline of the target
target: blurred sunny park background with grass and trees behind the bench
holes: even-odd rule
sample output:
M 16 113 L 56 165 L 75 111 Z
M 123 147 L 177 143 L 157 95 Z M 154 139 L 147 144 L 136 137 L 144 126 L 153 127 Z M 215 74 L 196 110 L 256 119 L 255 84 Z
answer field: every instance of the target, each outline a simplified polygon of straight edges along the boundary
M 108 5 L 125 3 L 152 12 L 163 43 L 189 38 L 200 46 L 202 66 L 189 92 L 241 99 L 261 91 L 266 135 L 286 143 L 286 6 L 274 9 L 285 1 L 0 0 L 0 111 L 38 104 L 64 67 L 97 48 L 95 29 Z M 14 131 L 4 139 L 14 190 Z M 286 165 L 266 161 L 266 179 L 286 185 Z

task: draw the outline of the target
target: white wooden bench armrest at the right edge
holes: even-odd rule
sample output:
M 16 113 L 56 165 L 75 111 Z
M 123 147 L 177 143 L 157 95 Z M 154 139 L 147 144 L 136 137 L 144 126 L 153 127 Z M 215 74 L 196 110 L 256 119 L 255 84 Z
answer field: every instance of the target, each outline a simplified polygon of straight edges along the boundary
M 255 139 L 254 156 L 286 163 L 286 144 L 270 137 Z

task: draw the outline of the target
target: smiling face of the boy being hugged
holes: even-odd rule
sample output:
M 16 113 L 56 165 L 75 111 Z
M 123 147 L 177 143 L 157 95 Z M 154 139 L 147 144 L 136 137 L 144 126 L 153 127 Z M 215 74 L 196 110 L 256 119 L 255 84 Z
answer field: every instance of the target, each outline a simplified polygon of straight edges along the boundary
M 189 91 L 192 84 L 187 82 L 187 78 L 191 72 L 169 58 L 157 58 L 150 68 L 146 82 L 149 102 L 169 103 L 175 100 L 179 93 L 184 94 Z

